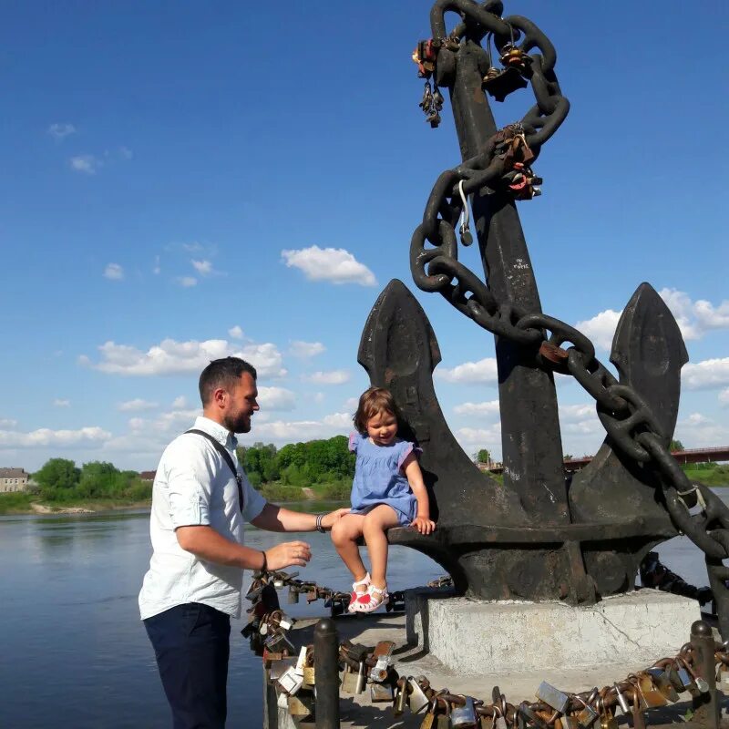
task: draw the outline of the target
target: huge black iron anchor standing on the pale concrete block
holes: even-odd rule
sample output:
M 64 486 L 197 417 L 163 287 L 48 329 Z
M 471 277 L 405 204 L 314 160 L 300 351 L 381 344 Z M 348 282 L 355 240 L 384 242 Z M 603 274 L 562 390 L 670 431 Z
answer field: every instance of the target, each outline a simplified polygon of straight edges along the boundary
M 447 10 L 457 10 L 464 21 L 448 35 Z M 488 157 L 497 127 L 483 91 L 490 66 L 490 57 L 485 59 L 480 46 L 483 36 L 491 33 L 499 50 L 507 48 L 513 54 L 516 49 L 522 54 L 521 68 L 529 77 L 537 106 L 522 119 L 520 128 L 535 157 L 559 127 L 569 104 L 561 96 L 553 71 L 556 55 L 546 36 L 526 18 L 501 19 L 500 13 L 500 3 L 438 0 L 431 11 L 433 42 L 427 46 L 437 52 L 428 51 L 432 57 L 428 56 L 426 73 L 450 92 L 464 160 L 451 177 L 466 180 L 461 194 L 466 189 L 471 196 L 488 301 L 506 303 L 509 316 L 528 312 L 539 315 L 541 321 L 544 317 L 515 195 L 499 182 L 504 177 L 503 160 Z M 519 37 L 520 46 L 516 44 Z M 533 47 L 541 55 L 527 56 Z M 452 185 L 451 177 L 441 176 L 445 180 L 441 190 Z M 485 284 L 465 274 L 459 278 L 463 266 L 456 262 L 455 231 L 452 235 L 450 231 L 462 208 L 457 207 L 456 190 L 434 198 L 439 183 L 426 207 L 424 223 L 414 235 L 414 277 L 421 288 L 440 291 L 478 321 L 474 312 L 484 311 L 487 297 L 474 305 L 468 295 L 480 290 L 477 283 Z M 438 221 L 433 220 L 436 210 L 441 216 Z M 437 236 L 429 238 L 427 231 L 431 236 L 437 231 Z M 435 250 L 426 249 L 426 241 Z M 456 284 L 450 282 L 453 278 Z M 492 315 L 491 321 L 496 318 Z M 433 535 L 392 529 L 390 541 L 423 551 L 448 570 L 457 590 L 485 599 L 589 603 L 633 589 L 645 554 L 677 533 L 655 488 L 656 472 L 650 464 L 620 455 L 608 437 L 590 466 L 570 485 L 562 468 L 553 375 L 539 364 L 539 344 L 510 338 L 503 322 L 501 328 L 479 323 L 497 332 L 503 487 L 478 471 L 447 426 L 432 382 L 440 361 L 436 336 L 402 282 L 387 285 L 364 326 L 358 361 L 373 385 L 386 386 L 395 395 L 408 431 L 401 435 L 414 436 L 423 447 L 421 466 L 437 518 Z M 564 358 L 568 353 L 559 344 L 566 339 L 551 346 Z M 686 361 L 672 314 L 652 287 L 643 283 L 622 314 L 611 362 L 620 373 L 621 385 L 638 391 L 657 414 L 666 445 L 673 435 L 681 367 Z

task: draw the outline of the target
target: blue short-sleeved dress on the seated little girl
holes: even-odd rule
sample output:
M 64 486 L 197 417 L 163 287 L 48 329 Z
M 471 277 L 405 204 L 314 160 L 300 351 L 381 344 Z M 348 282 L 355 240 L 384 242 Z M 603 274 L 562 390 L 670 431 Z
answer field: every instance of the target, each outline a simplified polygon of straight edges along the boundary
M 397 440 L 389 446 L 375 446 L 367 436 L 353 433 L 349 449 L 356 455 L 352 484 L 352 513 L 366 514 L 380 504 L 395 509 L 401 527 L 408 526 L 417 515 L 417 499 L 400 470 L 414 443 Z

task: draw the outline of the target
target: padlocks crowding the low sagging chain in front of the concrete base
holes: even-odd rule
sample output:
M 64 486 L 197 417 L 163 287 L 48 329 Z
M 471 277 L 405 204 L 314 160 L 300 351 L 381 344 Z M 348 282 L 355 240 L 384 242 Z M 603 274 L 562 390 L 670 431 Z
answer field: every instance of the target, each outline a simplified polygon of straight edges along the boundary
M 716 644 L 716 678 L 729 684 L 729 646 Z M 401 676 L 393 665 L 392 641 L 374 647 L 344 642 L 339 647 L 340 691 L 364 693 L 369 686 L 373 703 L 392 703 L 395 716 L 406 710 L 423 714 L 421 729 L 617 729 L 620 714 L 631 717 L 633 727 L 644 729 L 646 710 L 679 701 L 681 693 L 701 696 L 711 690 L 693 669 L 693 647 L 683 646 L 675 658 L 664 658 L 651 668 L 631 673 L 624 681 L 590 692 L 566 693 L 542 682 L 536 702 L 508 703 L 495 686 L 491 702 L 437 690 L 426 676 Z M 298 658 L 265 662 L 269 681 L 276 689 L 279 706 L 295 718 L 315 710 L 313 646 L 305 646 Z

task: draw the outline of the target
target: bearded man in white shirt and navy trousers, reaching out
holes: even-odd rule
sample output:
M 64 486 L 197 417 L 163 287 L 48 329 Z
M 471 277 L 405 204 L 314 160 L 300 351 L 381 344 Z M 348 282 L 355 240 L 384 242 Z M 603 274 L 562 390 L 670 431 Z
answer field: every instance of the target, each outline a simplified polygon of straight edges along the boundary
M 290 511 L 252 488 L 237 464 L 233 434 L 251 430 L 257 397 L 251 364 L 237 357 L 210 362 L 200 375 L 195 430 L 202 433 L 176 437 L 154 479 L 153 554 L 139 611 L 175 729 L 225 725 L 231 616 L 241 615 L 242 570 L 282 570 L 312 558 L 298 540 L 265 551 L 243 546 L 244 522 L 271 531 L 323 531 L 347 513 Z

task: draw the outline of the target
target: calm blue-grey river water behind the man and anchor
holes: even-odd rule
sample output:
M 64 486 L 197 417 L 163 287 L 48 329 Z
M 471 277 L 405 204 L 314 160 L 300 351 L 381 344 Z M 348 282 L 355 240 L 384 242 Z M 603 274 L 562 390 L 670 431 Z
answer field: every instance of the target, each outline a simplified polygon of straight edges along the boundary
M 247 529 L 246 543 L 256 549 L 291 539 Z M 314 559 L 301 577 L 346 590 L 347 575 L 329 537 L 303 539 Z M 687 539 L 659 551 L 684 580 L 707 584 L 702 556 Z M 0 729 L 171 724 L 137 606 L 149 555 L 149 512 L 0 518 Z M 442 573 L 414 549 L 392 549 L 388 581 L 394 590 Z M 324 612 L 321 601 L 284 608 L 295 617 Z M 261 659 L 240 634 L 244 621 L 231 621 L 231 729 L 262 725 Z

